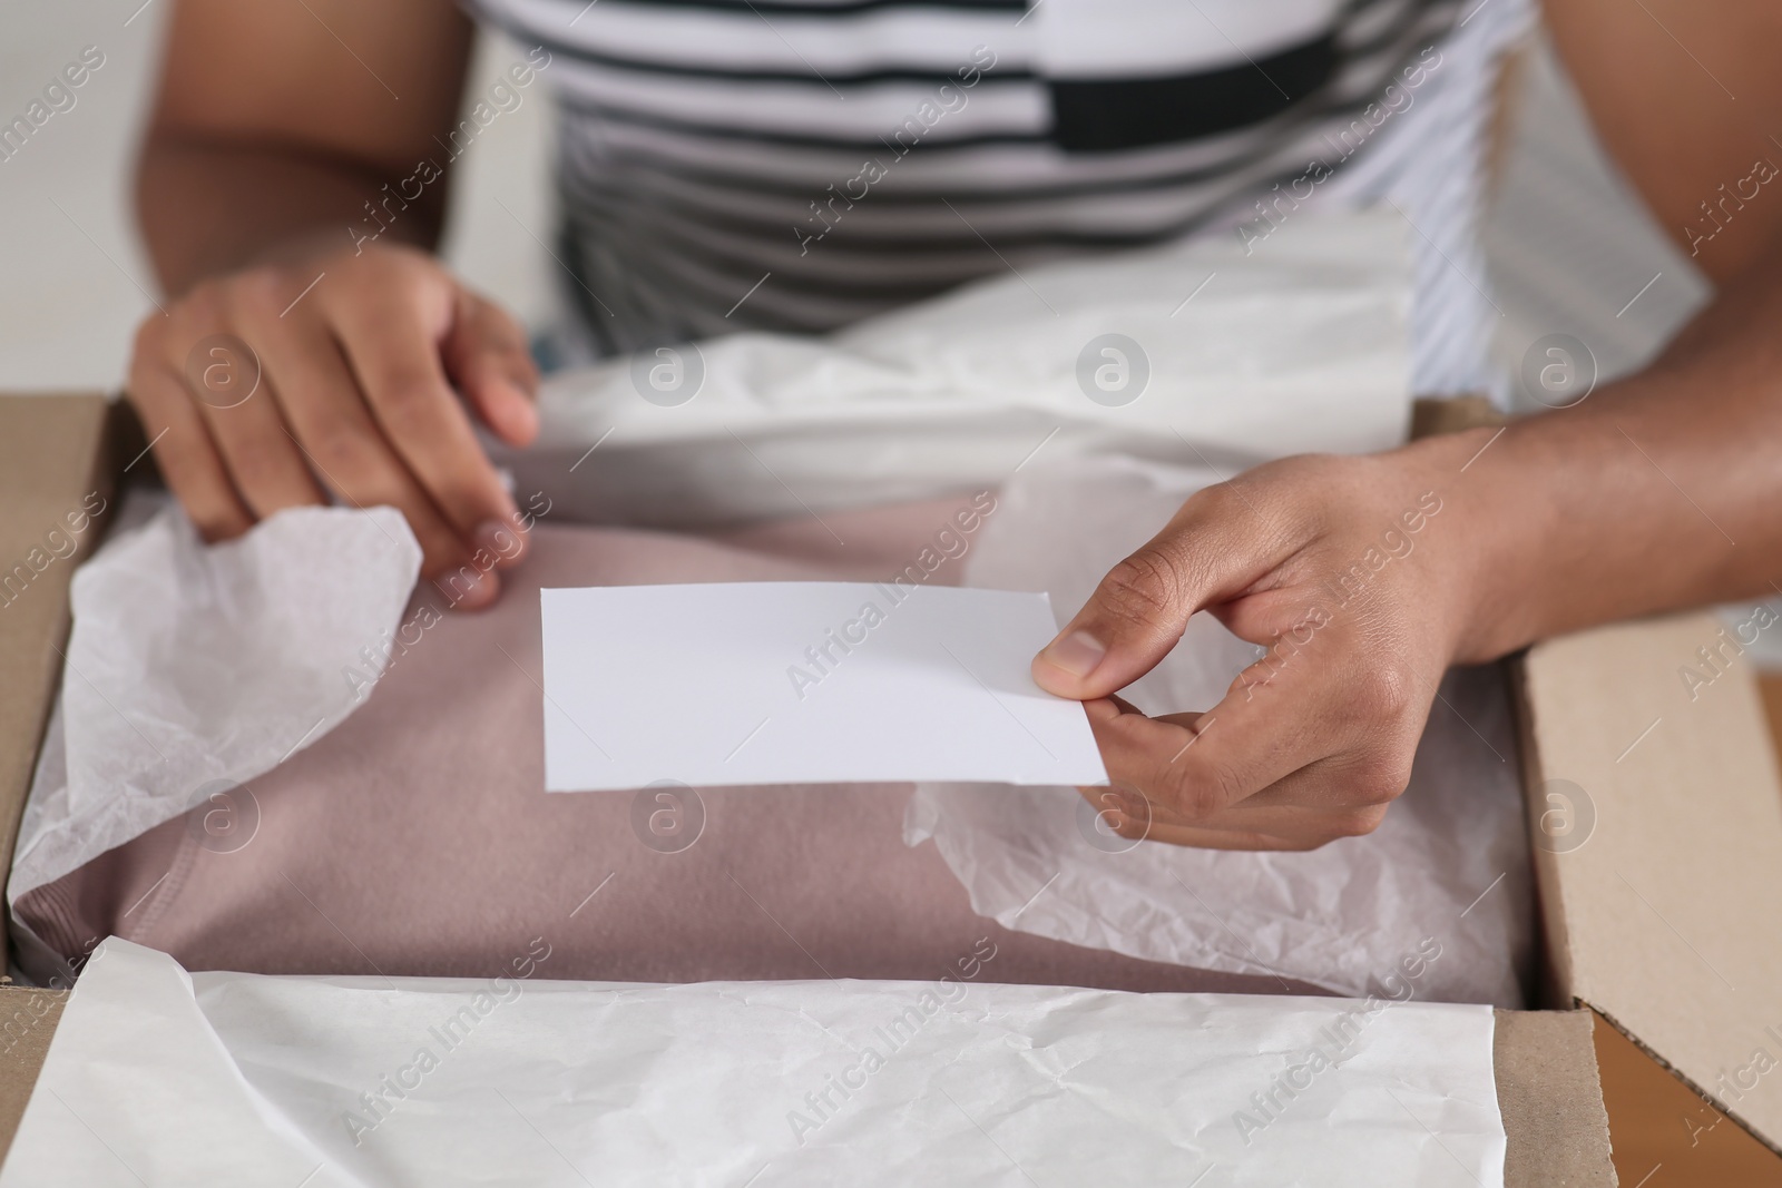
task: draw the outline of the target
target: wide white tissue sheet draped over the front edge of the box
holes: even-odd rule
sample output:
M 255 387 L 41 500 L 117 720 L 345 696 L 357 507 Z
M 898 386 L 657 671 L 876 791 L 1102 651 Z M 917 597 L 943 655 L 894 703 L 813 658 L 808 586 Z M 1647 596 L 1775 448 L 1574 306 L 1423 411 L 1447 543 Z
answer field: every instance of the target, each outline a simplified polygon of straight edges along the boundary
M 601 985 L 549 955 L 267 978 L 110 939 L 0 1188 L 1504 1183 L 1484 1006 Z

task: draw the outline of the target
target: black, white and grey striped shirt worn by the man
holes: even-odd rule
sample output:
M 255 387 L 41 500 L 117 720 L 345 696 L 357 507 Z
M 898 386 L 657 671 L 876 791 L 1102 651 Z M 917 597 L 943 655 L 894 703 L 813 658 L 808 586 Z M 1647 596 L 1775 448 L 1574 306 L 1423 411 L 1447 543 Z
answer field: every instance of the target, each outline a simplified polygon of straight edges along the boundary
M 1479 144 L 1527 0 L 470 2 L 551 53 L 584 358 L 1385 199 L 1413 383 L 1488 383 Z

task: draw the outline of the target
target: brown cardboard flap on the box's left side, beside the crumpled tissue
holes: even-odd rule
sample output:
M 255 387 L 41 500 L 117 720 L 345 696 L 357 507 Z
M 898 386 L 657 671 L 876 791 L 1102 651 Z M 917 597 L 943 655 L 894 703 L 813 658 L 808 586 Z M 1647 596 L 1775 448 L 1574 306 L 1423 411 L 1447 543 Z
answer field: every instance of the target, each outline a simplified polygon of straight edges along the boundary
M 0 885 L 62 673 L 68 582 L 128 461 L 107 456 L 107 419 L 103 395 L 0 397 Z M 5 926 L 0 912 L 0 953 Z

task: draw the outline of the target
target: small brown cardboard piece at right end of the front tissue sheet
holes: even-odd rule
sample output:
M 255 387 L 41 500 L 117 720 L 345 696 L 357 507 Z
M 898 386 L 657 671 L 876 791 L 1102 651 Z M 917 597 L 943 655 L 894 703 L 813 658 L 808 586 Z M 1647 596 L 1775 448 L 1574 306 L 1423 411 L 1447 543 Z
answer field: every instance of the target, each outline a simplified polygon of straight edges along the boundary
M 1492 1065 L 1508 1140 L 1504 1188 L 1613 1188 L 1590 1024 L 1586 1010 L 1497 1012 Z

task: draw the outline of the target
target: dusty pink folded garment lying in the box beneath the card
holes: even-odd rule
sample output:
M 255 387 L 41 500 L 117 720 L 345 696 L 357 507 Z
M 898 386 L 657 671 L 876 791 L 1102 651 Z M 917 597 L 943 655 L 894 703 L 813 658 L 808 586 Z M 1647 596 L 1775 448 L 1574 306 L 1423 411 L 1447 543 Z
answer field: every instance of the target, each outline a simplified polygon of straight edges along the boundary
M 969 536 L 966 500 L 804 518 L 722 540 L 542 524 L 501 602 L 431 622 L 351 718 L 253 780 L 251 839 L 168 821 L 20 898 L 77 962 L 116 933 L 187 969 L 704 981 L 912 978 L 1124 990 L 1320 994 L 1142 962 L 971 912 L 932 842 L 902 841 L 909 785 L 544 793 L 538 590 L 882 581 Z M 923 550 L 928 549 L 925 554 Z M 948 582 L 957 557 L 927 581 Z M 408 632 L 413 638 L 413 632 Z M 615 675 L 615 680 L 622 680 Z M 643 796 L 642 807 L 636 803 Z M 654 814 L 654 818 L 652 818 Z M 1087 842 L 1085 842 L 1087 844 Z M 1044 894 L 1044 891 L 1041 891 Z M 549 946 L 549 948 L 545 948 Z

